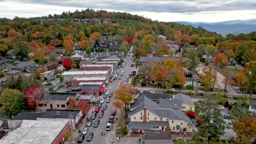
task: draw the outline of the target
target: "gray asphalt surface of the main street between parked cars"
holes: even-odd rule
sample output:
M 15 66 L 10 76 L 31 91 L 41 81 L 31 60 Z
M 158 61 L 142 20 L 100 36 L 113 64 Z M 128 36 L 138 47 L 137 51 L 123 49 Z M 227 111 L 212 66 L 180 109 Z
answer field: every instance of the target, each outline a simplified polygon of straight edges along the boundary
M 122 79 L 121 80 L 117 79 L 117 80 L 112 81 L 112 83 L 109 83 L 108 90 L 109 90 L 110 93 L 113 93 L 113 91 L 117 91 L 120 83 L 124 83 L 125 82 L 125 78 L 129 77 L 129 74 L 131 73 L 131 70 L 133 69 L 131 67 L 131 64 L 133 62 L 132 62 L 132 59 L 130 59 L 130 58 L 131 58 L 131 56 L 129 58 L 125 58 L 125 62 L 126 63 L 124 65 L 124 68 L 118 69 L 118 73 L 119 74 L 121 73 L 121 70 L 124 70 L 124 75 L 123 75 Z M 131 79 L 129 79 L 129 83 L 130 82 L 131 82 Z M 95 143 L 95 144 L 107 143 L 106 139 L 107 139 L 108 134 L 112 133 L 115 130 L 115 127 L 117 127 L 117 122 L 115 122 L 113 130 L 106 131 L 106 125 L 108 123 L 109 117 L 111 116 L 111 112 L 112 112 L 112 110 L 115 109 L 114 106 L 113 106 L 114 101 L 115 101 L 114 97 L 111 98 L 110 103 L 106 103 L 106 101 L 104 101 L 103 105 L 107 104 L 108 108 L 107 108 L 107 110 L 105 110 L 104 116 L 102 118 L 99 118 L 100 119 L 100 125 L 98 125 L 97 128 L 94 128 L 93 126 L 90 127 L 89 131 L 93 131 L 94 132 L 94 137 L 93 137 L 91 142 L 88 142 L 88 141 L 86 141 L 86 136 L 87 136 L 86 135 L 85 136 L 85 140 L 83 141 L 83 143 Z M 92 107 L 92 110 L 94 110 L 94 109 L 95 109 L 95 106 Z M 88 117 L 91 116 L 91 111 L 88 113 L 87 116 Z M 117 109 L 117 115 L 115 117 L 119 118 L 119 116 L 120 116 L 120 110 Z M 104 133 L 106 135 L 102 136 L 101 135 L 102 131 L 104 131 Z

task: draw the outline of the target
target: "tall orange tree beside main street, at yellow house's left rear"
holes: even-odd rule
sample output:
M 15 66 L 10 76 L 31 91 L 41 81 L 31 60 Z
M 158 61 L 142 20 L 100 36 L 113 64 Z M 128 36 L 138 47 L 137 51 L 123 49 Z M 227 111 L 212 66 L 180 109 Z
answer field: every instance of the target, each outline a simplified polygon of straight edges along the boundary
M 118 100 L 113 103 L 114 107 L 118 107 L 126 113 L 135 93 L 135 89 L 129 83 L 126 85 L 121 83 L 117 91 L 113 92 L 114 98 Z

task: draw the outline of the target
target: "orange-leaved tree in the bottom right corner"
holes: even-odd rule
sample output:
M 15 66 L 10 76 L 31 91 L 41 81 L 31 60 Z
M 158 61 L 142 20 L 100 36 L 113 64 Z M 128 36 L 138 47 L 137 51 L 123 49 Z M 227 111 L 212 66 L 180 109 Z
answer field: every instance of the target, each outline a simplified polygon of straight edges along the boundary
M 256 118 L 243 118 L 234 122 L 234 131 L 237 135 L 237 143 L 251 143 L 256 135 Z

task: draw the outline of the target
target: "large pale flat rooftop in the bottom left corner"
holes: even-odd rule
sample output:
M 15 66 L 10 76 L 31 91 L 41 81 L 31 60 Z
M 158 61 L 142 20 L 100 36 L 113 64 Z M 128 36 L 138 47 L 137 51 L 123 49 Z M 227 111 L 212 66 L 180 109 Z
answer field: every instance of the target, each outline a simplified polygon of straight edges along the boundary
M 4 144 L 46 144 L 54 143 L 57 136 L 67 127 L 68 120 L 63 121 L 33 121 L 24 120 L 0 139 Z

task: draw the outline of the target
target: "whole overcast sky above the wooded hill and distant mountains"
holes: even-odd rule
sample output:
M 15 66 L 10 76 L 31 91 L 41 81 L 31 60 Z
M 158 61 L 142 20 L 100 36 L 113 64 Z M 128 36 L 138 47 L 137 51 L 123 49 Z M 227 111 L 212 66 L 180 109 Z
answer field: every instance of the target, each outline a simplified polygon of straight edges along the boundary
M 126 11 L 158 21 L 256 19 L 256 0 L 0 0 L 0 17 L 45 16 L 86 8 Z

